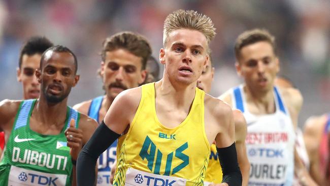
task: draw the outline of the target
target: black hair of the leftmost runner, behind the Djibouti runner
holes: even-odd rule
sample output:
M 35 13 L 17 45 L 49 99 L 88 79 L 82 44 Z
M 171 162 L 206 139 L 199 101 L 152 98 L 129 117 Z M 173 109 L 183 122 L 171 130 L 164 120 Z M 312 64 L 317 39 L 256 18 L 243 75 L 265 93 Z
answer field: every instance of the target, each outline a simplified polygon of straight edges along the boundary
M 29 38 L 24 45 L 22 46 L 21 52 L 19 54 L 18 66 L 22 67 L 22 58 L 23 55 L 34 55 L 34 54 L 43 54 L 48 48 L 54 46 L 54 44 L 49 41 L 46 37 L 34 36 Z

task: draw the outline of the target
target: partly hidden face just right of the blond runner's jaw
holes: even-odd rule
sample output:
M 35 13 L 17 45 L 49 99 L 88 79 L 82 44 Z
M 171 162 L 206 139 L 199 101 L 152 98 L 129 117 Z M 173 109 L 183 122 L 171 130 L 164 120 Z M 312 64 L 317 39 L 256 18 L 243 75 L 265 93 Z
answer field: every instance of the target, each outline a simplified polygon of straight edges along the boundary
M 203 69 L 201 77 L 197 80 L 197 87 L 204 90 L 206 93 L 211 91 L 214 68 L 212 67 L 210 58 L 207 61 L 206 67 Z

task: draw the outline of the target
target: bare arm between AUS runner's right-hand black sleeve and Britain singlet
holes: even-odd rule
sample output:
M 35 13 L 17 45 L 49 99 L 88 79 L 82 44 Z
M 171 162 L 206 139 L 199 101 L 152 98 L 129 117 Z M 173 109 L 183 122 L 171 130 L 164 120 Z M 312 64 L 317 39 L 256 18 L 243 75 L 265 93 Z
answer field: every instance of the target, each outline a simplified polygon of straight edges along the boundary
M 242 185 L 247 185 L 249 181 L 250 163 L 246 154 L 245 138 L 247 134 L 246 120 L 239 110 L 233 110 L 235 121 L 235 143 L 237 159 L 242 172 Z

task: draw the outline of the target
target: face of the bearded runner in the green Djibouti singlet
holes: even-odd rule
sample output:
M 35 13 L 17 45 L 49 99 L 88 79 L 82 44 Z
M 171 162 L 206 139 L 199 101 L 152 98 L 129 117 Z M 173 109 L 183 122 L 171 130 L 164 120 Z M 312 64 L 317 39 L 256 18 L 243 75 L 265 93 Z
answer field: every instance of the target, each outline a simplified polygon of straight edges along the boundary
M 41 72 L 37 72 L 37 77 L 48 102 L 59 103 L 69 96 L 71 88 L 79 80 L 75 70 L 71 53 L 48 51 L 45 54 Z

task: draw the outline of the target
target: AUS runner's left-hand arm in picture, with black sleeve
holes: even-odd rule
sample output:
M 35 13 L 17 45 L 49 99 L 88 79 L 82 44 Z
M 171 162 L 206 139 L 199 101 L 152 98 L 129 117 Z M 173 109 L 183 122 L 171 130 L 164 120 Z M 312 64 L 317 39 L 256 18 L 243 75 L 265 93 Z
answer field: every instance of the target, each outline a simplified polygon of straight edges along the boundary
M 92 185 L 97 158 L 124 132 L 141 99 L 141 87 L 121 92 L 111 104 L 104 122 L 81 150 L 77 162 L 78 185 Z M 125 113 L 125 114 L 122 114 Z

